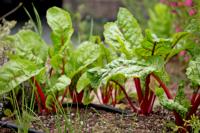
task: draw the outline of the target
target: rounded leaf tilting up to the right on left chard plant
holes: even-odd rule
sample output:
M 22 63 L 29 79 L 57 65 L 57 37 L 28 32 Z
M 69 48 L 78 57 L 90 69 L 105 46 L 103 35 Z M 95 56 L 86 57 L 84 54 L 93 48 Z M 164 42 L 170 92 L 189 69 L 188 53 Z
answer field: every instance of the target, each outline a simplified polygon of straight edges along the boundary
M 100 48 L 98 45 L 91 42 L 83 42 L 74 52 L 71 52 L 65 65 L 67 76 L 73 78 L 77 73 L 96 61 L 99 55 Z

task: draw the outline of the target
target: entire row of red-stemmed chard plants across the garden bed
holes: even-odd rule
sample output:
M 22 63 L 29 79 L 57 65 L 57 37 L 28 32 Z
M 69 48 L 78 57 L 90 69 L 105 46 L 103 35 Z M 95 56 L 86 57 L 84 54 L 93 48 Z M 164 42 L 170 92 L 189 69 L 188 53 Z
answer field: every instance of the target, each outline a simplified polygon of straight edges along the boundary
M 187 43 L 193 36 L 191 31 L 172 34 L 168 29 L 170 23 L 158 26 L 156 16 L 162 17 L 159 11 L 168 9 L 157 5 L 150 15 L 150 27 L 143 33 L 134 16 L 120 8 L 117 20 L 104 26 L 104 41 L 93 36 L 74 47 L 70 14 L 58 7 L 48 9 L 52 45 L 46 44 L 39 32 L 31 30 L 7 37 L 14 52 L 0 68 L 0 94 L 30 81 L 40 112 L 57 111 L 56 104 L 62 106 L 69 96 L 73 103 L 89 104 L 94 92 L 101 103 L 113 106 L 125 98 L 134 112 L 145 115 L 153 111 L 158 97 L 161 105 L 174 112 L 177 125 L 184 126 L 184 119 L 189 120 L 200 104 L 200 56 L 192 55 L 186 72 L 196 88 L 194 94 L 186 99 L 181 84 L 174 98 L 165 84 L 169 78 L 165 65 L 180 51 L 191 51 L 197 46 Z M 167 17 L 169 20 L 170 14 Z M 127 93 L 128 79 L 134 82 L 137 105 Z

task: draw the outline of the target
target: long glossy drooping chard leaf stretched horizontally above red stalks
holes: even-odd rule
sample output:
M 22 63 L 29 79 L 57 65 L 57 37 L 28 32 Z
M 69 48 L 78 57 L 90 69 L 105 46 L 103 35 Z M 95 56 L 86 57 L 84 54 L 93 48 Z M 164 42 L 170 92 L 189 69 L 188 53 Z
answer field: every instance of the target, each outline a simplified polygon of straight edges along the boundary
M 116 59 L 107 64 L 104 68 L 94 68 L 88 70 L 88 77 L 91 85 L 98 88 L 106 85 L 110 80 L 119 79 L 124 81 L 130 77 L 142 77 L 157 70 L 156 67 L 149 65 L 144 60 Z

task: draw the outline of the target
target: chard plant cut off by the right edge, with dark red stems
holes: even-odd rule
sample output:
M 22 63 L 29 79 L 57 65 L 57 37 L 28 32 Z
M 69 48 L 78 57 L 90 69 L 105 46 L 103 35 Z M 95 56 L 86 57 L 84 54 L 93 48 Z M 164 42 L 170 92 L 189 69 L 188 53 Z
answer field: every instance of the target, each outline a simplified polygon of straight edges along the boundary
M 186 130 L 188 129 L 188 127 L 187 125 L 184 125 L 184 121 L 190 120 L 193 115 L 196 115 L 198 107 L 200 105 L 199 65 L 199 58 L 191 60 L 186 71 L 186 75 L 192 83 L 191 88 L 193 88 L 193 93 L 189 98 L 187 98 L 184 93 L 183 83 L 179 85 L 175 98 L 167 99 L 164 96 L 164 92 L 162 91 L 162 89 L 156 89 L 156 95 L 159 97 L 160 104 L 166 109 L 173 111 L 176 118 L 176 124 L 178 126 L 186 128 Z

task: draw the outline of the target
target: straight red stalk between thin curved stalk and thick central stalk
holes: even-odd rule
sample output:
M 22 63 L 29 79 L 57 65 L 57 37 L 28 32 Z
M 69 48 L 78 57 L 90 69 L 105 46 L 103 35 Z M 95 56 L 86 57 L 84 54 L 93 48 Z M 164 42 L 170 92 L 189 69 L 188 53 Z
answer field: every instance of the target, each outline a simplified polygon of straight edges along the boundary
M 139 78 L 133 78 L 133 80 L 134 80 L 135 88 L 136 88 L 136 91 L 137 91 L 138 101 L 139 101 L 139 104 L 141 104 L 142 99 L 143 99 L 143 94 L 142 94 L 140 79 Z

